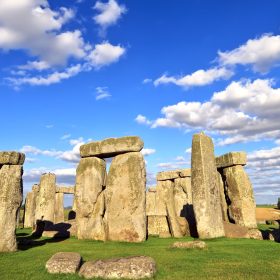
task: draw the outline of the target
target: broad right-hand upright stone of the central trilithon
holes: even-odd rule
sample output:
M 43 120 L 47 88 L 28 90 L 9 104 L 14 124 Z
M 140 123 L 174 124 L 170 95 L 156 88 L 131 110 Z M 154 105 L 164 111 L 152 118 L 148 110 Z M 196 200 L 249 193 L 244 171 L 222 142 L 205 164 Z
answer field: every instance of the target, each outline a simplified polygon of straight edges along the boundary
M 141 153 L 116 156 L 106 186 L 108 239 L 146 240 L 146 169 Z

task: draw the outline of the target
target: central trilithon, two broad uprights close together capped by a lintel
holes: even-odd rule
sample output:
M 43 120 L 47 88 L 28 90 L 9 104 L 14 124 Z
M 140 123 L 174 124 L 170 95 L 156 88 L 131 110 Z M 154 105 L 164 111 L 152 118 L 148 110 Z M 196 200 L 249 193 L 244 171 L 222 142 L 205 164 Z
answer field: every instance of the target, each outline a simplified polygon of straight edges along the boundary
M 78 239 L 146 240 L 143 146 L 139 137 L 128 136 L 80 147 L 75 188 Z M 114 158 L 107 174 L 108 157 Z

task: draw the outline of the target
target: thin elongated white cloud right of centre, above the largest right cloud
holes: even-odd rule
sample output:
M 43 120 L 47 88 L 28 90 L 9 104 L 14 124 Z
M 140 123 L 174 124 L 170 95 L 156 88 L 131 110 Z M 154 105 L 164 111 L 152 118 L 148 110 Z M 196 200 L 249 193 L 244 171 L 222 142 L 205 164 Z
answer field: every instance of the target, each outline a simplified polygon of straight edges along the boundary
M 190 75 L 183 77 L 172 77 L 162 75 L 160 78 L 154 81 L 154 85 L 158 86 L 161 84 L 175 84 L 183 88 L 204 86 L 212 84 L 214 81 L 221 79 L 229 79 L 232 77 L 233 72 L 224 67 L 222 68 L 211 68 L 208 70 L 198 70 Z

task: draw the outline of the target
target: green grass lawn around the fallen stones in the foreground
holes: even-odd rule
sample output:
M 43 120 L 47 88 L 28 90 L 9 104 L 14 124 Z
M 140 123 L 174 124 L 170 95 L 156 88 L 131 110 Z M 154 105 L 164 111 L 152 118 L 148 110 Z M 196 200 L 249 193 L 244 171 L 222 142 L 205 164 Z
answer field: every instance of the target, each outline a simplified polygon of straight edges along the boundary
M 262 229 L 271 226 L 262 225 Z M 18 230 L 24 238 L 30 230 Z M 218 238 L 206 240 L 207 250 L 171 249 L 174 241 L 150 237 L 141 244 L 97 242 L 70 238 L 63 241 L 35 240 L 15 253 L 0 254 L 0 279 L 81 279 L 78 275 L 50 275 L 46 261 L 56 252 L 79 252 L 85 261 L 147 255 L 157 263 L 155 279 L 280 279 L 280 244 L 272 241 Z M 35 246 L 38 245 L 38 246 Z

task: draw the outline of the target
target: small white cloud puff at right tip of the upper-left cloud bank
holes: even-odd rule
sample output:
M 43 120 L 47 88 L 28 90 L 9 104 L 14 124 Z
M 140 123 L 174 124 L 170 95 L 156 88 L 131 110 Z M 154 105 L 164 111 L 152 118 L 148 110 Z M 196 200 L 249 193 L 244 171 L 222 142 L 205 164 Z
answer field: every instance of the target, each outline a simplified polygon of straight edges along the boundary
M 88 56 L 91 65 L 94 68 L 101 68 L 111 63 L 117 62 L 125 53 L 125 48 L 113 46 L 109 42 L 97 44 L 94 50 Z

